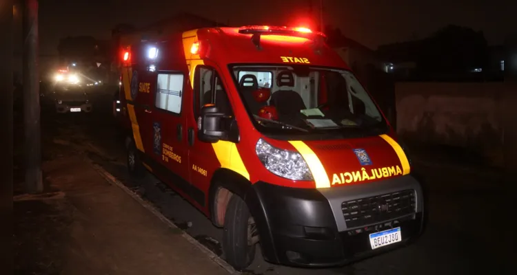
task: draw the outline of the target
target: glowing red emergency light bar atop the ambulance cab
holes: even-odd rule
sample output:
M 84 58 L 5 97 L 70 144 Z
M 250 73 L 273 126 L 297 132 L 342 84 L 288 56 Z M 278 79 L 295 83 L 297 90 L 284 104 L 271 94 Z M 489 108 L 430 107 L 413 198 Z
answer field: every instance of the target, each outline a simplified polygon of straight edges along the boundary
M 312 32 L 312 30 L 303 27 L 278 27 L 267 25 L 247 25 L 239 28 L 239 34 L 252 34 L 252 42 L 261 49 L 260 41 L 261 35 L 282 35 L 282 36 L 296 36 L 306 39 L 312 39 L 315 42 L 324 41 L 327 36 L 323 32 Z

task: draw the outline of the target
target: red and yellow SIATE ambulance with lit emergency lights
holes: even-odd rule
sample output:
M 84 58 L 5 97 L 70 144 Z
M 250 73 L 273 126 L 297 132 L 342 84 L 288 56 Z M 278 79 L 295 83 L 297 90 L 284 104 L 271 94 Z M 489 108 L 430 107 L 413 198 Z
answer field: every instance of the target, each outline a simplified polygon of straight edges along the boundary
M 203 28 L 121 53 L 128 169 L 214 225 L 223 256 L 343 265 L 423 230 L 405 148 L 354 73 L 306 28 Z

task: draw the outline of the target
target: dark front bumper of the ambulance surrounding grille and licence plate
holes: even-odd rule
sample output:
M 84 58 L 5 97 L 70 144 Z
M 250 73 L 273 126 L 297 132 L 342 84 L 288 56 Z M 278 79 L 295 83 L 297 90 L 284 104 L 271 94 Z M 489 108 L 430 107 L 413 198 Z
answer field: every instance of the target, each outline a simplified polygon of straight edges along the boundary
M 415 211 L 375 223 L 347 228 L 341 203 L 401 190 L 414 190 Z M 287 188 L 257 182 L 247 201 L 261 236 L 266 261 L 302 267 L 345 265 L 399 248 L 423 230 L 423 193 L 407 175 L 372 184 L 322 190 Z M 372 250 L 369 234 L 401 228 L 403 241 Z

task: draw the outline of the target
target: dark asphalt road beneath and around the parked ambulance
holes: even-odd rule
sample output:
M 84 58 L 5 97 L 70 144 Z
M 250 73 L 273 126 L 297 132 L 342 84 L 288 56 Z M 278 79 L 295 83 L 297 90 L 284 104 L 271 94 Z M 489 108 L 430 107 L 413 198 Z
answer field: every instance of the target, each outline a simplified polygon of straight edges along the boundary
M 56 115 L 44 109 L 42 126 L 55 140 L 71 140 L 90 157 L 151 201 L 165 217 L 221 254 L 222 230 L 152 175 L 134 181 L 111 116 L 112 92 L 92 95 L 89 114 Z M 49 130 L 50 129 L 50 130 Z M 424 156 L 425 158 L 425 156 Z M 494 175 L 467 173 L 439 164 L 416 164 L 429 195 L 429 223 L 414 244 L 345 267 L 297 269 L 265 262 L 261 254 L 247 274 L 510 274 L 517 259 L 513 234 L 515 195 Z M 171 244 L 174 245 L 174 244 Z

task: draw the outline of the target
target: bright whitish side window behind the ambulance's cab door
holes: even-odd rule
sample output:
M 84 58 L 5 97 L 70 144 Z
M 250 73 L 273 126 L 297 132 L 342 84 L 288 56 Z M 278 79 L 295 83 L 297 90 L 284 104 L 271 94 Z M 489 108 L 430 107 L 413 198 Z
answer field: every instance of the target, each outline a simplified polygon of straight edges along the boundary
M 181 113 L 183 74 L 158 74 L 156 79 L 156 108 Z

